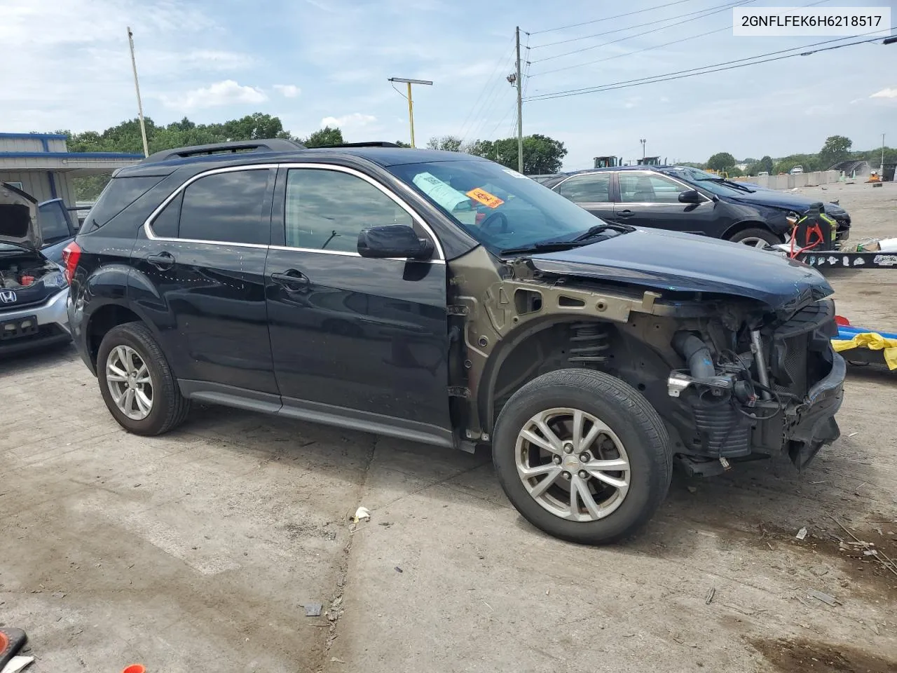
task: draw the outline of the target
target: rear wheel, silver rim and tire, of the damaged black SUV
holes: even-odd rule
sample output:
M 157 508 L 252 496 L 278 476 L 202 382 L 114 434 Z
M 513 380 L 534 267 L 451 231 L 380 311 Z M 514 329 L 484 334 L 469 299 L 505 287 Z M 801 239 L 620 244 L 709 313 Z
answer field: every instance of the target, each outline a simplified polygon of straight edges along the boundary
M 97 378 L 109 412 L 129 433 L 167 433 L 187 417 L 189 400 L 143 323 L 118 325 L 103 337 Z

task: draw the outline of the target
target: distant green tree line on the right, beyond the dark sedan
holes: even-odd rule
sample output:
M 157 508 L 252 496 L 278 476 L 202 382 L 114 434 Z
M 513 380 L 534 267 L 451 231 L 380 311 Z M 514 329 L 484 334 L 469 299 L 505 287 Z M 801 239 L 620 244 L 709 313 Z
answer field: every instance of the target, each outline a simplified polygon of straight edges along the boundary
M 689 165 L 695 168 L 725 171 L 730 177 L 737 177 L 741 175 L 757 175 L 762 171 L 766 171 L 771 175 L 787 173 L 795 166 L 802 166 L 805 172 L 829 170 L 835 164 L 849 160 L 866 161 L 873 168 L 877 168 L 882 162 L 882 150 L 880 147 L 862 151 L 852 151 L 851 147 L 853 147 L 853 141 L 846 135 L 830 135 L 825 139 L 823 148 L 814 154 L 789 154 L 775 160 L 767 155 L 759 160 L 745 159 L 743 162 L 738 162 L 732 154 L 718 152 L 711 156 L 706 163 L 690 163 Z M 894 162 L 897 162 L 897 149 L 885 147 L 884 163 Z M 739 163 L 747 164 L 745 170 L 736 168 L 736 164 Z

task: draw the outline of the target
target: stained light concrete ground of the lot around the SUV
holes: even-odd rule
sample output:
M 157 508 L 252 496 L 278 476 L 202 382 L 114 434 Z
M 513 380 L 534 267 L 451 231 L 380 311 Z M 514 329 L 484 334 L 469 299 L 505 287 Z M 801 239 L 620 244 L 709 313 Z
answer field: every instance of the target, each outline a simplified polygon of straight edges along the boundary
M 840 198 L 854 239 L 897 236 L 893 183 L 803 192 Z M 897 270 L 832 284 L 841 315 L 897 329 Z M 676 476 L 643 535 L 588 548 L 521 520 L 485 453 L 214 407 L 138 438 L 73 350 L 20 356 L 0 362 L 0 622 L 35 673 L 893 671 L 897 576 L 835 536 L 897 558 L 895 384 L 850 371 L 842 437 L 804 473 Z

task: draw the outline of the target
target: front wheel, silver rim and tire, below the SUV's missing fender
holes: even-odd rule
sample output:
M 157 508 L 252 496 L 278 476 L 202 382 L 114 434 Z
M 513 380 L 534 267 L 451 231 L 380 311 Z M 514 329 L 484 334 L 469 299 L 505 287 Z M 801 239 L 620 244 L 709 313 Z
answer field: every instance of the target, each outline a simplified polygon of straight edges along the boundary
M 510 502 L 555 538 L 600 545 L 640 529 L 666 497 L 673 454 L 657 411 L 608 374 L 551 371 L 502 408 L 492 461 Z

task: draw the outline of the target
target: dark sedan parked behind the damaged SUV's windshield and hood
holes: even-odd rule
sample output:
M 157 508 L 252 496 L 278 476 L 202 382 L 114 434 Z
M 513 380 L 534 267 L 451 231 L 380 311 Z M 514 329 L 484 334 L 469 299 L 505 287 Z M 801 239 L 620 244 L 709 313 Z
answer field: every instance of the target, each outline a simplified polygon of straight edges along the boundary
M 579 170 L 559 173 L 543 184 L 606 222 L 702 234 L 760 248 L 786 240 L 797 217 L 814 204 L 806 197 L 754 189 L 680 166 Z M 838 240 L 846 240 L 849 214 L 835 204 L 825 204 L 825 213 L 838 222 Z

